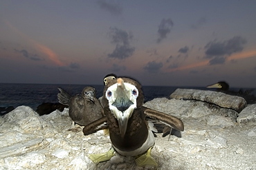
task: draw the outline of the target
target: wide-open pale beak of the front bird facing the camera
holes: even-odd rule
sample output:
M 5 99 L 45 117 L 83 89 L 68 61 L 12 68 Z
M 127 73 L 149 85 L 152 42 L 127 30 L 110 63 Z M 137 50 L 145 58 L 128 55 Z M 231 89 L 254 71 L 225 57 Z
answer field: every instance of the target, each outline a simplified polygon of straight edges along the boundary
M 109 106 L 112 113 L 118 120 L 119 130 L 122 137 L 127 131 L 127 123 L 136 108 L 136 100 L 131 98 L 131 89 L 124 83 L 122 78 L 118 78 L 116 83 L 115 100 Z

